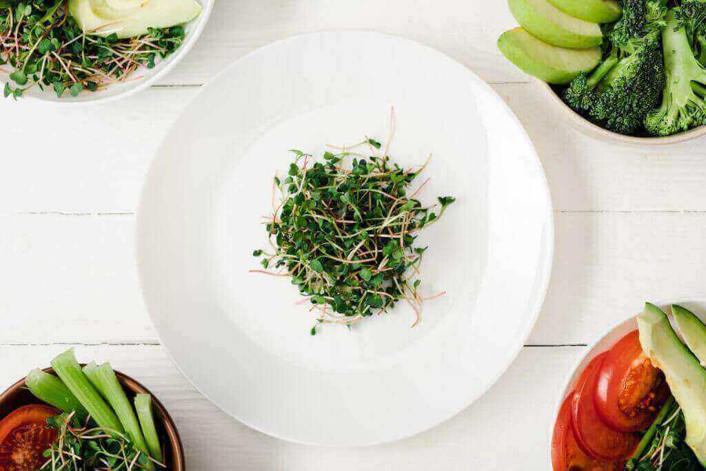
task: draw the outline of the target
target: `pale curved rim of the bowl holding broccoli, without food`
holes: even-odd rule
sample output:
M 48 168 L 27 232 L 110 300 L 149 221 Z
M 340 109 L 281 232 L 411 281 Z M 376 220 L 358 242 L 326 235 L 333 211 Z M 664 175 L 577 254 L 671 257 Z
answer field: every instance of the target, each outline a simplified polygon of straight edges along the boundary
M 549 101 L 554 104 L 554 107 L 558 109 L 561 114 L 566 116 L 567 121 L 572 128 L 587 135 L 588 137 L 593 137 L 594 139 L 601 140 L 603 142 L 611 142 L 614 144 L 635 147 L 671 145 L 678 142 L 692 140 L 706 134 L 706 126 L 699 126 L 698 128 L 693 128 L 688 131 L 684 131 L 683 133 L 677 133 L 666 137 L 635 137 L 614 133 L 595 125 L 578 114 L 576 111 L 573 111 L 573 109 L 570 109 L 570 107 L 563 102 L 561 97 L 559 97 L 558 94 L 554 92 L 554 89 L 552 89 L 546 82 L 542 82 L 541 80 L 536 80 L 535 82 L 539 88 L 542 89 L 542 93 L 544 93 L 549 98 Z

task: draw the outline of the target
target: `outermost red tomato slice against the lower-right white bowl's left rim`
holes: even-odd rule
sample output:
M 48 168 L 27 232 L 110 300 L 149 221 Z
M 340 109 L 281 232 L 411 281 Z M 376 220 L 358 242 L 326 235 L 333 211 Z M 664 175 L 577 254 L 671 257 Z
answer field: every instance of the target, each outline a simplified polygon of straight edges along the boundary
M 576 443 L 571 429 L 571 393 L 559 410 L 551 438 L 551 463 L 554 471 L 621 471 L 623 462 L 594 460 Z

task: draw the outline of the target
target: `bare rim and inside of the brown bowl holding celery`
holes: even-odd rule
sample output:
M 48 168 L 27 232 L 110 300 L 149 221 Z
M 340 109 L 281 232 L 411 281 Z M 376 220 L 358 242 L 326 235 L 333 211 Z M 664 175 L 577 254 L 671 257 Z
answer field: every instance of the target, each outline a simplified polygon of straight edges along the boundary
M 83 366 L 83 365 L 82 365 Z M 44 368 L 47 373 L 54 374 L 54 369 Z M 138 383 L 128 375 L 119 371 L 115 372 L 116 377 L 123 385 L 128 396 L 135 394 L 150 394 L 152 396 L 152 413 L 155 416 L 155 425 L 157 433 L 162 439 L 162 453 L 164 454 L 165 465 L 167 470 L 184 471 L 186 470 L 186 461 L 184 460 L 184 447 L 181 445 L 177 426 L 174 425 L 172 417 L 169 417 L 169 412 L 160 403 L 160 400 L 155 397 L 145 386 Z M 15 384 L 10 386 L 4 393 L 0 394 L 0 420 L 6 417 L 10 412 L 17 408 L 28 405 L 37 404 L 41 401 L 25 387 L 25 379 L 20 379 Z

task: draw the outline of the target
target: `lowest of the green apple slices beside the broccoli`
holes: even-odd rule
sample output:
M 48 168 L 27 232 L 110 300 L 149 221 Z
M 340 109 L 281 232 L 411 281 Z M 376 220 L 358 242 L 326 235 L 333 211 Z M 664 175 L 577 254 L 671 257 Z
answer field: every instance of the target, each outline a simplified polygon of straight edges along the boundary
M 581 72 L 591 71 L 601 60 L 601 49 L 566 49 L 537 39 L 521 27 L 503 32 L 498 49 L 515 66 L 539 80 L 566 84 Z

